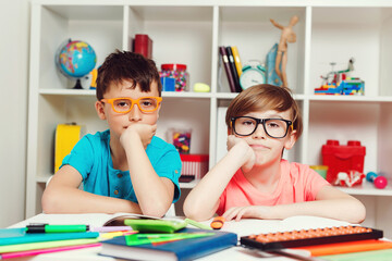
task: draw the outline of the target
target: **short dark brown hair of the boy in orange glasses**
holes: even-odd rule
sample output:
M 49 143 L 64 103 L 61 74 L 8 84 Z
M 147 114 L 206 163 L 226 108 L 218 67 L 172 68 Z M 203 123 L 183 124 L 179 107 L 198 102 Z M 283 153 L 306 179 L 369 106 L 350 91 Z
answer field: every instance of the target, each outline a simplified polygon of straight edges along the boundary
M 161 96 L 162 84 L 156 63 L 139 53 L 115 50 L 105 59 L 103 64 L 98 69 L 97 99 L 103 99 L 109 86 L 122 80 L 132 82 L 133 89 L 138 84 L 142 91 L 146 92 L 150 91 L 151 83 L 157 82 L 158 92 Z

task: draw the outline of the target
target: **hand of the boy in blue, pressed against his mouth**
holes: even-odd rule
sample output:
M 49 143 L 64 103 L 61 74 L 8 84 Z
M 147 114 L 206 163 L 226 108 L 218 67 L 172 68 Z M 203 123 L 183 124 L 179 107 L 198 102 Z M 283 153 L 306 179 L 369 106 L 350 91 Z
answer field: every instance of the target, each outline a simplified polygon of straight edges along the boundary
M 154 135 L 157 132 L 157 124 L 149 125 L 144 123 L 136 123 L 130 125 L 121 135 L 120 141 L 123 147 L 125 147 L 127 140 L 132 139 L 132 135 L 136 135 L 144 148 L 147 148 L 147 145 L 151 142 Z

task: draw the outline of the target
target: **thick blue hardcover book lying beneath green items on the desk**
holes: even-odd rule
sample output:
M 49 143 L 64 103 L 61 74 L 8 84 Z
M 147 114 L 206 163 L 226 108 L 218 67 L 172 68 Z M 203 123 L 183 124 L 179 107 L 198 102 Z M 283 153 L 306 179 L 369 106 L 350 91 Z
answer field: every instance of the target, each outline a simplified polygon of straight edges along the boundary
M 100 254 L 137 260 L 193 260 L 236 246 L 237 236 L 229 232 L 184 228 L 179 233 L 213 233 L 213 235 L 163 244 L 128 246 L 126 236 L 102 243 Z

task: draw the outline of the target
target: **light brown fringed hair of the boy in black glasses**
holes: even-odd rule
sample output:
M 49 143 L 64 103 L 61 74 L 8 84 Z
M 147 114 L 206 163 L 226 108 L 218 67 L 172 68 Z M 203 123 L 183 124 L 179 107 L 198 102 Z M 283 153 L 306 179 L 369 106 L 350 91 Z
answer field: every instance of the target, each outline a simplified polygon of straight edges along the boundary
M 292 92 L 286 87 L 269 84 L 255 85 L 238 94 L 230 103 L 225 123 L 231 130 L 231 119 L 243 116 L 249 112 L 274 110 L 278 112 L 290 111 L 295 137 L 299 138 L 303 132 L 303 121 L 298 104 L 293 99 Z

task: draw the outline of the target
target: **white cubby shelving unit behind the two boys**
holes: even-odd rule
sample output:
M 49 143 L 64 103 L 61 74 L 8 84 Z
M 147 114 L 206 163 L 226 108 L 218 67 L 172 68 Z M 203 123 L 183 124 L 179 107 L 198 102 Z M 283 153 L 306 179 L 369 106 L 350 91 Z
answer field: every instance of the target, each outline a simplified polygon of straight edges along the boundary
M 341 144 L 355 139 L 366 146 L 364 171 L 392 178 L 392 3 L 388 0 L 33 0 L 26 217 L 41 211 L 45 182 L 53 174 L 57 124 L 76 122 L 86 133 L 107 128 L 94 109 L 95 91 L 71 89 L 73 83 L 57 72 L 54 53 L 62 41 L 89 42 L 101 64 L 114 49 L 128 50 L 135 34 L 148 34 L 158 67 L 186 64 L 189 85 L 206 83 L 211 91 L 163 92 L 157 135 L 166 138 L 169 127 L 192 127 L 191 152 L 208 153 L 213 165 L 225 151 L 220 113 L 235 97 L 219 66 L 218 47 L 237 46 L 243 63 L 265 62 L 280 38 L 269 18 L 287 24 L 293 15 L 299 22 L 294 27 L 297 41 L 289 46 L 287 78 L 303 111 L 304 133 L 285 158 L 320 164 L 327 139 Z M 315 96 L 330 62 L 336 63 L 335 69 L 345 67 L 351 58 L 355 58 L 353 76 L 366 83 L 365 96 Z M 392 196 L 391 186 L 379 190 L 368 184 L 343 190 L 366 203 L 366 225 L 392 235 L 387 226 L 392 204 L 385 200 Z

